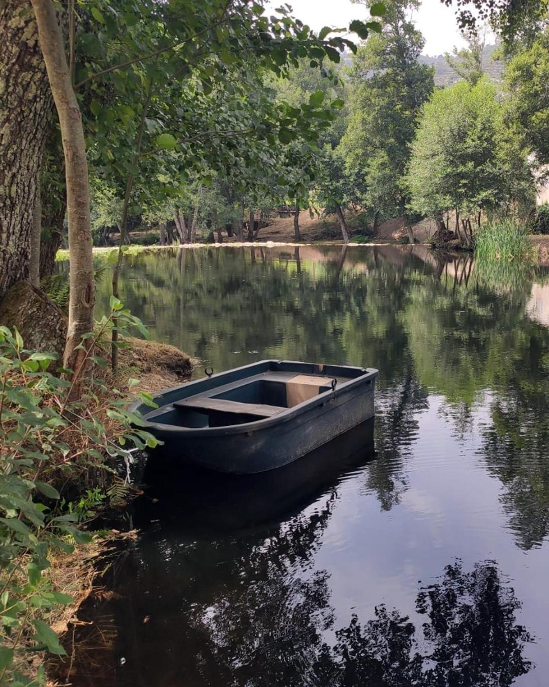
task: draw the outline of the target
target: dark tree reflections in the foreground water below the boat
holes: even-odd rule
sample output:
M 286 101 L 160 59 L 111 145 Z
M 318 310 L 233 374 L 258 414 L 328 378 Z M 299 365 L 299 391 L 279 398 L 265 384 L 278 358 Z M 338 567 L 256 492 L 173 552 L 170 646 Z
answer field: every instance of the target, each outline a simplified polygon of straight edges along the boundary
M 314 565 L 336 503 L 331 489 L 261 534 L 192 541 L 176 525 L 178 508 L 164 504 L 117 572 L 108 607 L 125 666 L 112 674 L 101 666 L 102 684 L 508 687 L 530 671 L 532 638 L 493 561 L 472 570 L 455 561 L 410 609 L 381 604 L 342 626 L 329 574 Z M 78 684 L 94 684 L 78 655 L 75 670 Z

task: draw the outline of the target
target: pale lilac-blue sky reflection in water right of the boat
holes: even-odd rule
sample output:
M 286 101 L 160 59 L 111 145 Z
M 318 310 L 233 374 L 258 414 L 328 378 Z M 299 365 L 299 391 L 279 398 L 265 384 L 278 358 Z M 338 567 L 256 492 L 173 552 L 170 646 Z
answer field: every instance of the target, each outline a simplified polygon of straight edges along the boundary
M 517 620 L 538 640 L 525 652 L 536 670 L 515 684 L 541 687 L 549 671 L 542 640 L 549 638 L 549 550 L 517 551 L 499 502 L 500 482 L 487 475 L 476 455 L 482 447 L 478 425 L 489 419 L 486 410 L 476 409 L 465 441 L 449 441 L 452 427 L 441 418 L 441 403 L 432 396 L 419 416 L 406 458 L 408 488 L 390 513 L 365 495 L 362 472 L 338 488 L 338 504 L 315 556 L 316 566 L 330 572 L 336 627 L 347 624 L 351 613 L 369 618 L 380 603 L 397 607 L 421 627 L 424 618 L 414 610 L 419 581 L 431 583 L 454 558 L 466 570 L 492 559 L 522 602 Z

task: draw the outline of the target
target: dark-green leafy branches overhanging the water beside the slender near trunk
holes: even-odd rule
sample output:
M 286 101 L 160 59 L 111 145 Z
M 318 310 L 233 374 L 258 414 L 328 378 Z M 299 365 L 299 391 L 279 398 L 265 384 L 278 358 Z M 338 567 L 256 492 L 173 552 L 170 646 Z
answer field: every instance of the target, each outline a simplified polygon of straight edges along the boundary
M 127 216 L 218 177 L 242 191 L 272 188 L 277 150 L 314 142 L 333 119 L 323 98 L 272 98 L 268 74 L 307 60 L 318 72 L 355 46 L 329 28 L 318 36 L 281 7 L 240 0 L 104 0 L 80 3 L 75 82 L 97 179 Z M 356 23 L 365 37 L 369 28 Z M 264 174 L 255 174 L 264 170 Z M 123 229 L 125 227 L 123 226 Z

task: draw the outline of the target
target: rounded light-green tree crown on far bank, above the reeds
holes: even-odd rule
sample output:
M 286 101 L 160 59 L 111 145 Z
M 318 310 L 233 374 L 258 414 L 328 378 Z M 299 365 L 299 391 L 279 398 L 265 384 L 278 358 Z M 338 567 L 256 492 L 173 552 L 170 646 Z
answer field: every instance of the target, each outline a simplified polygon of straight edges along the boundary
M 524 149 L 484 78 L 435 91 L 423 107 L 407 175 L 411 207 L 428 216 L 506 212 L 533 194 Z

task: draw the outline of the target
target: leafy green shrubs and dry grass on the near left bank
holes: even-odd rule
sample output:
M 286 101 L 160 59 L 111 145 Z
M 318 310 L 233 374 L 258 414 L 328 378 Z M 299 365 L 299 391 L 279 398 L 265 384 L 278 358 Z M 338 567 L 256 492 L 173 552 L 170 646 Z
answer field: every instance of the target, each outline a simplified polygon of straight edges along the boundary
M 113 327 L 138 326 L 113 300 L 93 343 Z M 82 344 L 83 345 L 83 344 Z M 101 359 L 92 356 L 97 365 Z M 89 491 L 75 506 L 60 501 L 61 486 L 82 484 L 90 471 L 113 471 L 109 462 L 131 460 L 126 446 L 154 446 L 150 433 L 134 429 L 126 410 L 128 391 L 108 388 L 94 370 L 80 401 L 69 401 L 72 383 L 52 372 L 56 356 L 25 350 L 17 330 L 0 327 L 0 682 L 27 684 L 25 660 L 65 649 L 48 618 L 71 597 L 49 580 L 51 555 L 71 552 L 91 537 L 78 523 L 100 493 Z M 135 381 L 130 380 L 128 388 Z M 148 394 L 141 394 L 152 403 Z M 154 405 L 154 404 L 153 404 Z M 63 512 L 63 507 L 65 513 Z M 43 677 L 43 671 L 40 673 Z

